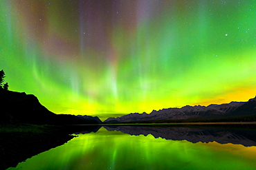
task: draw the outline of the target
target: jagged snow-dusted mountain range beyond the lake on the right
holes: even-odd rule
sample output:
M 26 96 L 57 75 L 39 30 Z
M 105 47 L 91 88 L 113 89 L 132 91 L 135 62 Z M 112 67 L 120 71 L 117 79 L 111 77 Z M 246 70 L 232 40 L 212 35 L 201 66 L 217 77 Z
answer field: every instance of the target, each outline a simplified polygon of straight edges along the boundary
M 231 102 L 221 105 L 208 105 L 208 107 L 196 105 L 185 106 L 181 108 L 169 108 L 161 110 L 153 110 L 150 114 L 127 114 L 118 118 L 108 118 L 104 123 L 170 123 L 172 120 L 208 120 L 235 118 L 241 120 L 240 117 L 256 116 L 256 98 L 248 100 L 248 102 Z M 239 117 L 239 118 L 238 118 Z

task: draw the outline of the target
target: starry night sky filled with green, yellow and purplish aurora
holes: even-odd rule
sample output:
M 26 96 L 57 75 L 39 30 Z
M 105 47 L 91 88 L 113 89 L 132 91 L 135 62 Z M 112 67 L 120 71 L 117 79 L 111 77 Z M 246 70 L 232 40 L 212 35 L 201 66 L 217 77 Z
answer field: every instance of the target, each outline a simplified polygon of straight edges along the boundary
M 256 95 L 255 0 L 1 0 L 9 89 L 108 117 Z

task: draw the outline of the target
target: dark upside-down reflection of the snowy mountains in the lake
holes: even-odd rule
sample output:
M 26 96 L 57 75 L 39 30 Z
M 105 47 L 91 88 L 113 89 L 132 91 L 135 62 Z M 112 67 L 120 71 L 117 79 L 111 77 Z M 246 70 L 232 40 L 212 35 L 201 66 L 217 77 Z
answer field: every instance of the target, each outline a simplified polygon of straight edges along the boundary
M 232 143 L 245 147 L 256 146 L 255 125 L 249 127 L 170 127 L 170 126 L 104 126 L 108 131 L 122 131 L 134 136 L 152 134 L 154 138 L 167 140 L 187 140 L 188 142 L 218 142 L 220 144 Z

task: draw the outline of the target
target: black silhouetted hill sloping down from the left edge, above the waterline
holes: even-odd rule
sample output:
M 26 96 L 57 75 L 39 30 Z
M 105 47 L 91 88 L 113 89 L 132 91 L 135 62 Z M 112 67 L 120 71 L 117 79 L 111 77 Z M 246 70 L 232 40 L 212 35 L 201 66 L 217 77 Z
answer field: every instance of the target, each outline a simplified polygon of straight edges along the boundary
M 39 103 L 33 94 L 0 92 L 0 123 L 51 125 L 100 124 L 98 117 L 54 114 Z

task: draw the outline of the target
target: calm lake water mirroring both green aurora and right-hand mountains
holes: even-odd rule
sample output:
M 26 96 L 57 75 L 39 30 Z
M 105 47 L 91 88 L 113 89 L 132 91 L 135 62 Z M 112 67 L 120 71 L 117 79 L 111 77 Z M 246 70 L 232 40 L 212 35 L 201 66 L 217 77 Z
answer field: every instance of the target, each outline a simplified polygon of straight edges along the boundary
M 256 169 L 254 130 L 111 126 L 77 135 L 10 169 Z

